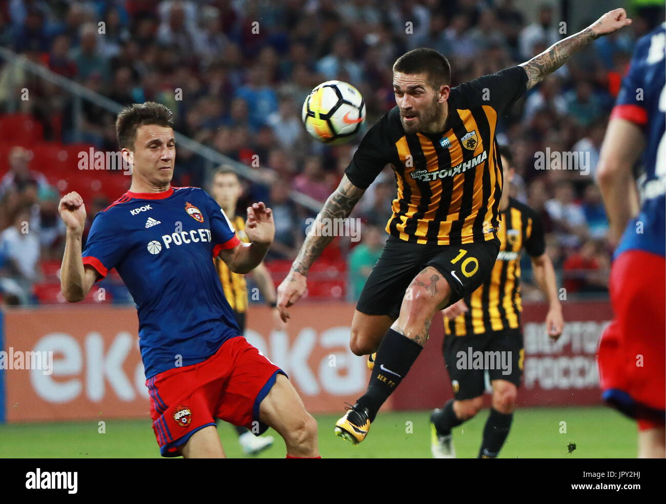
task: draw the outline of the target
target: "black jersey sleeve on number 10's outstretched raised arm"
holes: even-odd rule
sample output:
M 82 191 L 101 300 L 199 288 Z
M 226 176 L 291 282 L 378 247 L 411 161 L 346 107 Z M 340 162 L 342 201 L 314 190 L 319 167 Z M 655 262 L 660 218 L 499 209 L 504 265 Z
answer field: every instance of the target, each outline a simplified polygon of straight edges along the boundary
M 527 73 L 523 67 L 509 67 L 498 73 L 483 75 L 458 86 L 466 107 L 490 105 L 498 116 L 527 91 Z

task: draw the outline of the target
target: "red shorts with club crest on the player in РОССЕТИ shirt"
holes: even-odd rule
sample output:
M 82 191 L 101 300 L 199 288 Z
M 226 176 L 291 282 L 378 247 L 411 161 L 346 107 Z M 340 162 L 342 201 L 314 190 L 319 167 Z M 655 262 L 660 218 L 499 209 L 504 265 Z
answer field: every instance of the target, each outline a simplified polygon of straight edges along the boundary
M 237 336 L 203 362 L 147 379 L 162 456 L 179 457 L 178 446 L 199 429 L 215 425 L 216 418 L 255 434 L 264 432 L 268 426 L 259 421 L 259 405 L 278 374 L 284 372 Z

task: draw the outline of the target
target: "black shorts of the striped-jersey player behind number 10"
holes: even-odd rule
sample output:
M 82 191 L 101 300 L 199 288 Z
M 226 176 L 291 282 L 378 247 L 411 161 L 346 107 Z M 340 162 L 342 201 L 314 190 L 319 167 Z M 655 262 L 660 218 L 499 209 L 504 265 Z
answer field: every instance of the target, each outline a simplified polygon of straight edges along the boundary
M 505 379 L 519 387 L 524 357 L 520 329 L 444 337 L 444 362 L 459 401 L 483 395 L 486 372 L 490 381 Z

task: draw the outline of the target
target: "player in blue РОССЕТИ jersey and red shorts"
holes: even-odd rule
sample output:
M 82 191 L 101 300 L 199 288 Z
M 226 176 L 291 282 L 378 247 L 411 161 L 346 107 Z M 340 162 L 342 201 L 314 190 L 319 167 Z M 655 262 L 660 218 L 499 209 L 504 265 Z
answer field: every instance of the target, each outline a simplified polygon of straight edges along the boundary
M 224 457 L 214 424 L 219 418 L 258 425 L 259 433 L 273 427 L 287 457 L 318 457 L 316 421 L 284 372 L 240 336 L 210 260 L 212 252 L 234 272 L 252 270 L 272 242 L 272 212 L 261 202 L 248 207 L 250 243 L 242 244 L 208 194 L 170 186 L 172 125 L 171 112 L 157 103 L 119 114 L 117 137 L 133 165 L 132 185 L 95 216 L 83 259 L 83 199 L 76 192 L 61 199 L 67 224 L 62 294 L 69 302 L 83 300 L 111 268 L 127 284 L 139 312 L 151 417 L 163 456 Z M 163 234 L 173 224 L 176 232 Z

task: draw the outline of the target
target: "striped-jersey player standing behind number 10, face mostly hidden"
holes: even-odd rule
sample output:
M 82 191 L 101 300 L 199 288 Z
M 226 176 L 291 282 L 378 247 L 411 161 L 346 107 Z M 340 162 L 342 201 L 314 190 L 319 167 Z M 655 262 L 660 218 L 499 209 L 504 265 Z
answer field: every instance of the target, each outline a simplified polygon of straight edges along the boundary
M 513 160 L 505 146 L 500 147 L 505 182 L 513 179 Z M 484 403 L 486 373 L 492 384 L 492 407 L 484 428 L 480 458 L 497 457 L 509 434 L 517 387 L 523 374 L 523 333 L 520 315 L 520 256 L 524 249 L 532 262 L 534 280 L 548 302 L 545 325 L 557 340 L 563 329 L 562 307 L 557 298 L 555 270 L 545 254 L 543 228 L 537 212 L 509 196 L 504 186 L 500 200 L 500 253 L 482 286 L 470 296 L 443 310 L 444 361 L 451 378 L 455 399 L 450 399 L 430 416 L 432 455 L 454 458 L 451 429 L 474 417 Z M 459 358 L 464 355 L 464 361 Z M 497 352 L 494 369 L 467 369 L 468 352 Z M 500 352 L 509 363 L 500 369 Z M 462 365 L 464 363 L 465 365 Z

